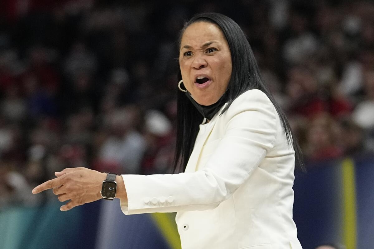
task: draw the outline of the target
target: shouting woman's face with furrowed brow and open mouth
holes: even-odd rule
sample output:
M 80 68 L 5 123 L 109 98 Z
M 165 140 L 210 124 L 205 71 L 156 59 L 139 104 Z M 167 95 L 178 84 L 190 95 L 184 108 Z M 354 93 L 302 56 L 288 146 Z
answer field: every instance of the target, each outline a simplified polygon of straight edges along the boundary
M 200 105 L 216 103 L 231 77 L 229 45 L 221 29 L 210 22 L 195 22 L 183 33 L 179 65 L 184 87 Z

